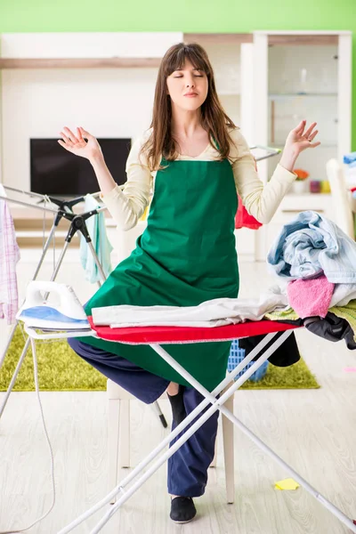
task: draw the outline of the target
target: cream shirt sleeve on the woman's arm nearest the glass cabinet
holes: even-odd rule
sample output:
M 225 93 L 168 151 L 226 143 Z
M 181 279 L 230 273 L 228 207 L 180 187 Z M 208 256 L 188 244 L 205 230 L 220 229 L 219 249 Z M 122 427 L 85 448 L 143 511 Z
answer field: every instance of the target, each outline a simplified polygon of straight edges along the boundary
M 231 159 L 236 190 L 248 214 L 253 215 L 259 223 L 270 223 L 282 198 L 295 181 L 296 174 L 278 165 L 271 180 L 263 184 L 255 169 L 255 158 L 239 128 L 232 130 L 230 134 L 233 141 Z

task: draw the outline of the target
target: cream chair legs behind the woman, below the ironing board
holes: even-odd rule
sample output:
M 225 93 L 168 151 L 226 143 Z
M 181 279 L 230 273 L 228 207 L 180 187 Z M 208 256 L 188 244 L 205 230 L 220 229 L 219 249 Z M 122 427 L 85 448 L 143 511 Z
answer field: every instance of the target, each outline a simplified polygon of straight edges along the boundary
M 117 486 L 120 468 L 130 467 L 130 401 L 135 397 L 109 379 L 107 397 L 109 401 L 109 486 L 112 489 Z M 160 398 L 166 399 L 166 392 Z M 231 412 L 233 412 L 233 398 L 234 395 L 231 395 L 224 404 Z M 223 454 L 226 497 L 228 504 L 232 504 L 235 496 L 233 424 L 225 416 L 223 416 Z M 215 465 L 216 449 L 210 467 L 215 467 Z M 116 498 L 113 498 L 111 504 L 115 501 Z

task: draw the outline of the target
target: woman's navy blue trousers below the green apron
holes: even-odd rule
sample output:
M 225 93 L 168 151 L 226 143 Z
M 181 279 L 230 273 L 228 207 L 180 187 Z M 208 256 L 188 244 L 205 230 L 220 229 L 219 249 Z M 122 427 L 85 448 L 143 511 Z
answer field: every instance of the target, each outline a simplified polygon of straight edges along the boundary
M 104 376 L 132 393 L 140 401 L 150 404 L 157 401 L 161 394 L 166 391 L 169 380 L 153 375 L 149 371 L 137 367 L 131 361 L 117 356 L 117 354 L 102 351 L 78 341 L 74 337 L 69 338 L 68 342 L 81 358 L 97 368 Z M 190 414 L 203 400 L 204 397 L 197 390 L 184 386 L 183 401 L 187 414 Z M 206 488 L 207 469 L 214 458 L 218 417 L 219 412 L 216 411 L 168 459 L 168 493 L 182 497 L 200 497 L 203 495 Z M 172 428 L 174 429 L 174 427 L 173 424 Z M 174 441 L 177 441 L 181 435 L 182 433 Z M 174 441 L 170 443 L 171 446 Z

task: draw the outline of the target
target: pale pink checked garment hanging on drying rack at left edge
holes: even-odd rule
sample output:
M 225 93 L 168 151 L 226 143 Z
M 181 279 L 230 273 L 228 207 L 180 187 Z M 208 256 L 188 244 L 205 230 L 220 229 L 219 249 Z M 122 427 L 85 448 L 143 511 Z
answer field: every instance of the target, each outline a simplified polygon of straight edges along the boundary
M 0 319 L 7 324 L 15 320 L 19 306 L 16 263 L 20 250 L 16 241 L 12 214 L 6 202 L 0 198 Z

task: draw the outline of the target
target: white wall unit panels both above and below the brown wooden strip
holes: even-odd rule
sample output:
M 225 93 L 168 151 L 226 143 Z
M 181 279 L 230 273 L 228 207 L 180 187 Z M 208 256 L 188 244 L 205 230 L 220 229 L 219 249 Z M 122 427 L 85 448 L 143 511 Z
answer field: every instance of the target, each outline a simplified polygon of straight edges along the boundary
M 160 58 L 182 32 L 9 33 L 2 58 Z M 150 125 L 158 69 L 4 69 L 0 180 L 29 190 L 29 139 L 82 125 L 97 137 L 135 137 Z M 64 150 L 64 149 L 63 149 Z

